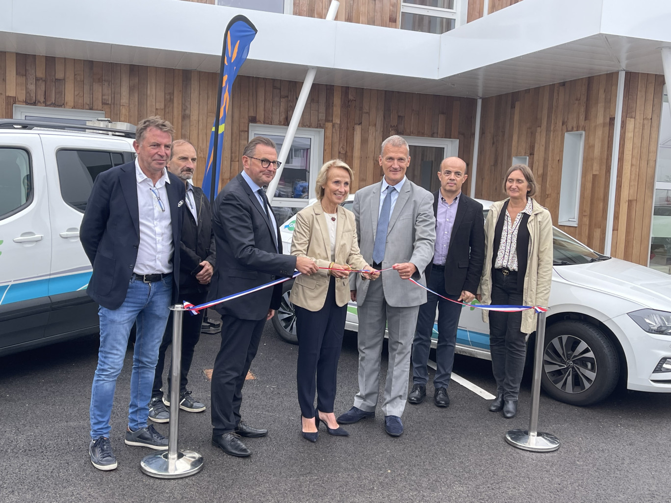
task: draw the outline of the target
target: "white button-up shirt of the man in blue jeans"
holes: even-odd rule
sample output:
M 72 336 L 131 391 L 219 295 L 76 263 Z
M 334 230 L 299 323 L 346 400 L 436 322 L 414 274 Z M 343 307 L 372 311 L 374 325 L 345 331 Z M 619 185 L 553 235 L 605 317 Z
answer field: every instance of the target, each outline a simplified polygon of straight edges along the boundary
M 140 245 L 138 245 L 138 260 L 133 272 L 136 274 L 172 272 L 171 259 L 174 246 L 172 245 L 168 190 L 166 190 L 166 182 L 170 183 L 168 170 L 163 168 L 163 176 L 154 185 L 154 182 L 142 172 L 136 158 L 135 177 L 138 181 Z M 158 198 L 160 198 L 160 203 Z

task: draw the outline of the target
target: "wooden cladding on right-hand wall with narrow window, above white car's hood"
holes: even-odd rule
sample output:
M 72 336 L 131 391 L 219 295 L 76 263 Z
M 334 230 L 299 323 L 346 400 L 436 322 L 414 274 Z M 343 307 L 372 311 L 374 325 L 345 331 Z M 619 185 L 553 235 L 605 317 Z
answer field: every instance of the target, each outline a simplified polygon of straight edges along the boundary
M 648 264 L 663 76 L 627 72 L 617 172 L 611 254 Z M 559 226 L 597 251 L 604 250 L 617 73 L 518 91 L 482 100 L 476 197 L 500 200 L 513 156 L 529 156 L 539 184 L 536 199 L 554 223 L 564 133 L 585 131 L 578 227 Z

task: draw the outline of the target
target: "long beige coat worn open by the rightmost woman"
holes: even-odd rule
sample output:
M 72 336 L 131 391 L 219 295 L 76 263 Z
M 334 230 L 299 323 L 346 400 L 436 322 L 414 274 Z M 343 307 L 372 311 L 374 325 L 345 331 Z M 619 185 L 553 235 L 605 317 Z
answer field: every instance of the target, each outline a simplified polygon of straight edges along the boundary
M 501 215 L 503 201 L 497 201 L 489 208 L 487 219 L 484 221 L 484 235 L 486 256 L 480 292 L 482 304 L 492 303 L 492 258 L 494 254 L 494 231 Z M 527 221 L 529 229 L 529 258 L 527 272 L 524 275 L 524 290 L 522 298 L 525 306 L 548 306 L 550 302 L 550 284 L 552 284 L 552 215 L 548 209 L 532 199 L 533 209 Z M 533 309 L 522 312 L 523 333 L 531 333 L 536 329 L 536 313 Z M 488 323 L 488 311 L 482 311 L 482 320 Z

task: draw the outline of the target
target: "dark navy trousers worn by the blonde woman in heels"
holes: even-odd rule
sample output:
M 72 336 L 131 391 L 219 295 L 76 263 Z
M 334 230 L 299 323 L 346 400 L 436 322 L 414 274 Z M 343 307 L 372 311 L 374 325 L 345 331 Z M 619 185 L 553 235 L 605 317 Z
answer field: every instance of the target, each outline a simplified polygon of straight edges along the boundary
M 315 416 L 315 374 L 317 376 L 317 408 L 333 412 L 338 359 L 345 331 L 347 304 L 335 303 L 335 278 L 329 282 L 324 306 L 319 311 L 296 309 L 298 365 L 296 382 L 301 415 Z

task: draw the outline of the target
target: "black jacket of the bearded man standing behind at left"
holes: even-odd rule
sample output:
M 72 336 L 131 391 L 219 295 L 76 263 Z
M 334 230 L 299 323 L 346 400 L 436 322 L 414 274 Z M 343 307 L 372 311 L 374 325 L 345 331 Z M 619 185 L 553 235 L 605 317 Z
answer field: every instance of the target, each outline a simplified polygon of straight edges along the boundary
M 193 199 L 196 205 L 198 221 L 188 207 L 184 210 L 182 241 L 179 243 L 179 292 L 185 294 L 205 294 L 209 284 L 200 284 L 196 274 L 201 272 L 201 262 L 207 260 L 215 266 L 215 242 L 212 230 L 212 211 L 209 201 L 200 187 L 193 186 Z M 186 199 L 185 199 L 185 206 Z M 188 298 L 185 300 L 189 300 Z

